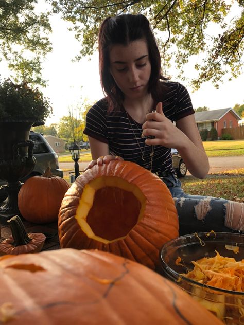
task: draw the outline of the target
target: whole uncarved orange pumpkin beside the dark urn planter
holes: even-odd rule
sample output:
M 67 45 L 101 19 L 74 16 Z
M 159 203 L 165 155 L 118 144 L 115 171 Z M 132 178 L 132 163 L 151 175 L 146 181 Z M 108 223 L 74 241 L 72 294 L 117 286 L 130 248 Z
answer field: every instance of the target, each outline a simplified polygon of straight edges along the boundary
M 33 223 L 57 221 L 62 199 L 68 189 L 66 180 L 52 175 L 50 167 L 42 176 L 28 178 L 18 194 L 21 215 Z

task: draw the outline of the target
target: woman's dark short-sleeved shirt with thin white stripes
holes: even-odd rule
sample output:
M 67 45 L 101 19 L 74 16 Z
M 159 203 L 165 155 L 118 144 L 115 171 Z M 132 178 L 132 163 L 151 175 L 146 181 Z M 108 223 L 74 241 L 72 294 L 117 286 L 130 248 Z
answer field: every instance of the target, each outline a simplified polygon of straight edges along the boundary
M 163 112 L 172 122 L 194 114 L 189 93 L 180 83 L 164 82 L 162 98 Z M 84 134 L 108 143 L 111 155 L 133 161 L 149 170 L 152 167 L 151 171 L 159 175 L 165 171 L 174 173 L 170 148 L 155 146 L 151 160 L 152 146 L 145 145 L 145 138 L 141 137 L 142 124 L 127 115 L 124 107 L 116 114 L 108 114 L 107 109 L 106 98 L 91 107 L 86 115 Z

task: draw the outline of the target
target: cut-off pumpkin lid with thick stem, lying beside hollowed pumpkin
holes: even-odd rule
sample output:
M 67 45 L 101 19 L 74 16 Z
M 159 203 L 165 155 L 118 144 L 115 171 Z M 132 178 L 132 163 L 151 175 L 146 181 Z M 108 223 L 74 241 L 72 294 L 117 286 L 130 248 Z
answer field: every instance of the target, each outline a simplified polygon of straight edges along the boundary
M 8 220 L 12 236 L 0 243 L 0 256 L 36 253 L 41 251 L 46 236 L 43 233 L 28 233 L 18 215 Z

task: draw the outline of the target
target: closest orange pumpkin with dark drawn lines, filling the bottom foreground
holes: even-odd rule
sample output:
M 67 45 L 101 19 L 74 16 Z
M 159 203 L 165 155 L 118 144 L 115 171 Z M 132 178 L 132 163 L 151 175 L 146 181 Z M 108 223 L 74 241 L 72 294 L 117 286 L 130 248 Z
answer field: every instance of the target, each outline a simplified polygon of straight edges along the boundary
M 149 268 L 98 250 L 6 256 L 0 287 L 0 316 L 9 325 L 222 324 Z

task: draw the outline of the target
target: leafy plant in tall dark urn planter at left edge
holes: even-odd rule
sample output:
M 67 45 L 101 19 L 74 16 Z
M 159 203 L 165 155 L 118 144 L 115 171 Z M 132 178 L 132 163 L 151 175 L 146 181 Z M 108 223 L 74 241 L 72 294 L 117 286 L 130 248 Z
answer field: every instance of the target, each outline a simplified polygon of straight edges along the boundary
M 0 222 L 19 213 L 20 179 L 27 176 L 36 164 L 29 141 L 32 125 L 42 125 L 52 113 L 49 100 L 27 81 L 14 84 L 0 80 L 0 179 L 6 180 L 8 198 L 0 206 Z

